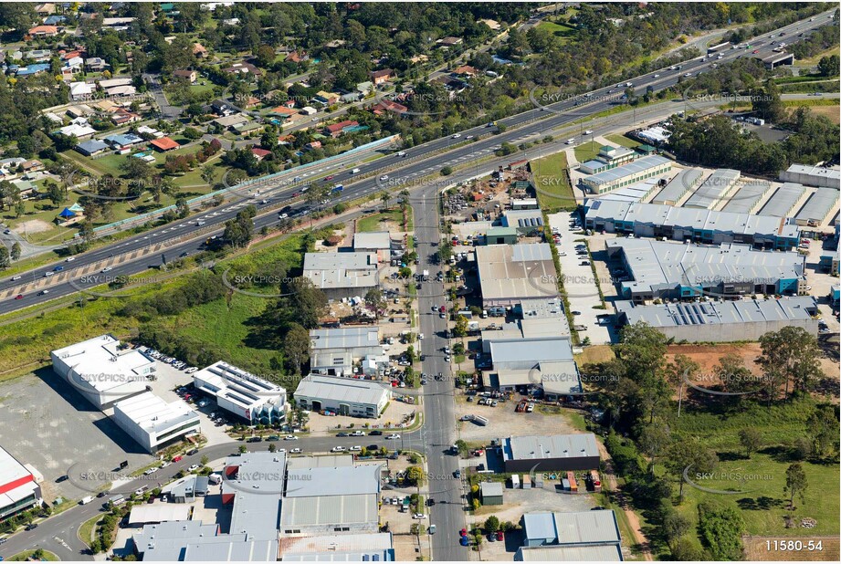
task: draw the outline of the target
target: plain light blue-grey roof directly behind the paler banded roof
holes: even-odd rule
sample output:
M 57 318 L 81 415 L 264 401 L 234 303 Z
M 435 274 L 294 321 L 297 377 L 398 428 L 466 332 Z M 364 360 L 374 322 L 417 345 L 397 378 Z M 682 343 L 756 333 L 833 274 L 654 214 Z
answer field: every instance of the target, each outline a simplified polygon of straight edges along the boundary
M 286 497 L 356 496 L 380 492 L 380 466 L 310 467 L 290 470 Z

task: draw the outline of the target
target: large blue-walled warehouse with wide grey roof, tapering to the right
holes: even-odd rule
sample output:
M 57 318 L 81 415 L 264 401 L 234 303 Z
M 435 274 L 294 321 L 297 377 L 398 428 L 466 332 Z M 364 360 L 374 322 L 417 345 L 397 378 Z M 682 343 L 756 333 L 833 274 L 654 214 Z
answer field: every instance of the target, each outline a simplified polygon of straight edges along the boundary
M 608 239 L 607 256 L 633 280 L 620 282 L 623 298 L 738 298 L 752 294 L 795 296 L 805 291 L 805 257 L 754 251 L 750 245 L 680 245 L 651 239 Z

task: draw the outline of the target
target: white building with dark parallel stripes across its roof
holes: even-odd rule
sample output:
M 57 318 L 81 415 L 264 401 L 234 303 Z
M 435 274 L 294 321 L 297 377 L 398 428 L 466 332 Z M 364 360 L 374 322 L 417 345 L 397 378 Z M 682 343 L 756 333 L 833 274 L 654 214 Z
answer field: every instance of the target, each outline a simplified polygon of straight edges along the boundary
M 216 400 L 216 405 L 248 424 L 274 424 L 286 420 L 286 390 L 277 384 L 219 360 L 193 374 L 195 389 Z

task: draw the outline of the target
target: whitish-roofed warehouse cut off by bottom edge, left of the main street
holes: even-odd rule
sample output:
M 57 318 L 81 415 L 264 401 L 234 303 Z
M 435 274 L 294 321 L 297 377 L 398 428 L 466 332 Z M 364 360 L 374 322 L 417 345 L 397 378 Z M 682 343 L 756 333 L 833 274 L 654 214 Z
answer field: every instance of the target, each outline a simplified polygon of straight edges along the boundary
M 394 541 L 391 533 L 281 538 L 280 554 L 284 562 L 394 562 Z

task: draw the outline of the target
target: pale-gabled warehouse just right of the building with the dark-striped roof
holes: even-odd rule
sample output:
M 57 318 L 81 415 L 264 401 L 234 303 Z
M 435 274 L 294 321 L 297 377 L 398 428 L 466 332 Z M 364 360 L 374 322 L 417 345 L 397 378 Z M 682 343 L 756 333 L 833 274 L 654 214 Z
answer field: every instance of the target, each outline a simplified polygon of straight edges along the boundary
M 376 419 L 391 391 L 375 381 L 310 374 L 298 383 L 295 400 L 303 409 Z

